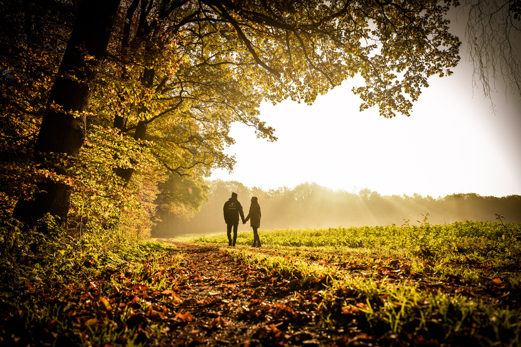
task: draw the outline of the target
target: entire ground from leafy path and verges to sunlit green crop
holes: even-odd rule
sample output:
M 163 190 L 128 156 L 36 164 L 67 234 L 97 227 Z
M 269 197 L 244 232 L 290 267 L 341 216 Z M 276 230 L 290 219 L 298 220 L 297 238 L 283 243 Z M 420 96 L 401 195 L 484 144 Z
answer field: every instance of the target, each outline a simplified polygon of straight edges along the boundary
M 521 346 L 521 224 L 259 234 L 56 237 L 2 275 L 0 344 Z

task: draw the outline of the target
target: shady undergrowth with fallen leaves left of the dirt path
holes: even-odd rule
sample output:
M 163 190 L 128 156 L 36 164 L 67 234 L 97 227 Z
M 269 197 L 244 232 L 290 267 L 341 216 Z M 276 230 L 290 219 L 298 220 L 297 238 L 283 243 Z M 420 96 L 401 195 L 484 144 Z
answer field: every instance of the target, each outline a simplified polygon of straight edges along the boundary
M 117 300 L 125 290 L 175 287 L 165 269 L 179 265 L 178 247 L 130 243 L 95 229 L 75 239 L 52 219 L 44 222 L 44 233 L 16 220 L 0 228 L 0 344 L 127 346 L 160 339 L 159 323 L 132 325 L 150 303 Z

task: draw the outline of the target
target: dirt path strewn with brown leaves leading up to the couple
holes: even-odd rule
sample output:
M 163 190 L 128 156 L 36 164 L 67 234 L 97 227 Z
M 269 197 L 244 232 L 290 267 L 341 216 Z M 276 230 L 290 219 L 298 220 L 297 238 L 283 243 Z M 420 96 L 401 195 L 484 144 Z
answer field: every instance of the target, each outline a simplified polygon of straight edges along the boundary
M 181 303 L 167 325 L 173 345 L 332 345 L 315 290 L 288 295 L 285 282 L 234 261 L 219 245 L 175 243 L 185 253 L 177 279 Z M 287 282 L 287 281 L 286 281 Z

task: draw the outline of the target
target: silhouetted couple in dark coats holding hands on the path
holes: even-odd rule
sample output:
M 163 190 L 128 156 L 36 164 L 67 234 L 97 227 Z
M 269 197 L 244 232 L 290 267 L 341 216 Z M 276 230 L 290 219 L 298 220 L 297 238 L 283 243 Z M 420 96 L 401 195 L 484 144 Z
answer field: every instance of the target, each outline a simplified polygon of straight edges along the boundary
M 250 212 L 247 217 L 244 218 L 244 212 L 239 200 L 237 200 L 237 193 L 231 193 L 230 199 L 225 203 L 222 208 L 222 212 L 225 215 L 225 223 L 228 234 L 228 246 L 235 247 L 235 240 L 237 240 L 237 228 L 239 227 L 239 214 L 241 215 L 242 224 L 246 224 L 250 219 L 250 226 L 253 229 L 253 247 L 261 246 L 261 239 L 257 229 L 261 227 L 261 205 L 258 203 L 256 196 L 252 196 L 252 204 L 250 205 Z M 231 228 L 233 227 L 233 242 L 231 239 Z

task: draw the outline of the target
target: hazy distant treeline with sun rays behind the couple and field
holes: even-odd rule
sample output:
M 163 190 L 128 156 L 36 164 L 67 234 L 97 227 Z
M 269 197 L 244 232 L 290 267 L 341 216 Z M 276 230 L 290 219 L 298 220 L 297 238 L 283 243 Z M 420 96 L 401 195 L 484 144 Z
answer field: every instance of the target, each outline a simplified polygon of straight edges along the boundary
M 261 229 L 324 228 L 338 226 L 419 224 L 429 213 L 428 222 L 444 224 L 464 220 L 494 220 L 495 214 L 505 216 L 507 222 L 521 222 L 521 196 L 480 196 L 475 193 L 450 194 L 445 197 L 380 195 L 370 189 L 358 194 L 332 190 L 317 183 L 302 183 L 291 189 L 262 190 L 248 188 L 237 181 L 207 182 L 209 203 L 187 220 L 163 218 L 154 228 L 155 236 L 183 233 L 218 232 L 226 230 L 222 205 L 231 192 L 239 194 L 239 201 L 248 213 L 251 196 L 257 196 L 262 208 Z M 239 230 L 251 230 L 240 224 Z

